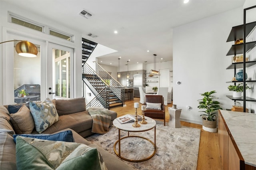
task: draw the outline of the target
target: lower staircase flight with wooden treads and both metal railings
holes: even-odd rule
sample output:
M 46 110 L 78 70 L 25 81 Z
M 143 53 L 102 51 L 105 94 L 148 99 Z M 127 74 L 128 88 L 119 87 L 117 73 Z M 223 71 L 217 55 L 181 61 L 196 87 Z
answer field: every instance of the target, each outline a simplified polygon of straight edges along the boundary
M 100 106 L 110 109 L 124 105 L 124 86 L 114 79 L 98 63 L 94 71 L 87 63 L 83 65 L 83 81 L 95 95 L 86 107 Z

